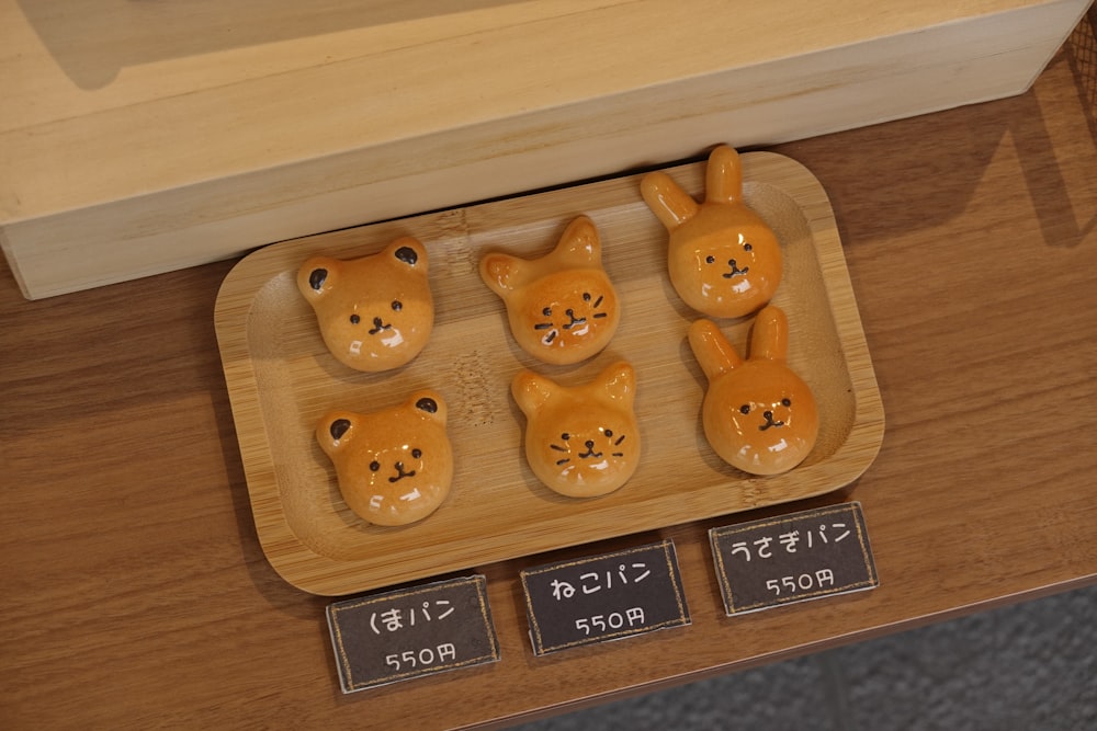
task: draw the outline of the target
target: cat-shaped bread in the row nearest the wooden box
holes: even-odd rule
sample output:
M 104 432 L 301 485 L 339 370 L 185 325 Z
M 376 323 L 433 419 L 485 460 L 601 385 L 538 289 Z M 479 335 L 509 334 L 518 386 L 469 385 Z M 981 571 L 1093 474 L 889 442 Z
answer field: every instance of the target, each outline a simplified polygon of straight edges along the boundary
M 479 272 L 506 304 L 514 342 L 543 363 L 585 361 L 617 331 L 618 295 L 602 269 L 598 230 L 587 216 L 567 226 L 551 253 L 535 260 L 488 253 Z

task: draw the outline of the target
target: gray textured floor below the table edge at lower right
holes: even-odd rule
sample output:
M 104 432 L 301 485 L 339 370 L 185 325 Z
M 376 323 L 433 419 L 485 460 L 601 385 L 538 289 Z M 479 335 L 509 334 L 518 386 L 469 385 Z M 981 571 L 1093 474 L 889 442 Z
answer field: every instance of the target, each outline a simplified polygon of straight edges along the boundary
M 516 728 L 1097 730 L 1097 586 Z

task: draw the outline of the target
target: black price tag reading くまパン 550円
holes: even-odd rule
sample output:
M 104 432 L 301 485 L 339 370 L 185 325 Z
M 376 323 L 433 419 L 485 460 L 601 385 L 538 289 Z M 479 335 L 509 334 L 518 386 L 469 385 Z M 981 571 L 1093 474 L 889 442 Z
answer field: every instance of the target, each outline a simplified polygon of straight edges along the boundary
M 484 576 L 328 605 L 343 693 L 499 659 Z

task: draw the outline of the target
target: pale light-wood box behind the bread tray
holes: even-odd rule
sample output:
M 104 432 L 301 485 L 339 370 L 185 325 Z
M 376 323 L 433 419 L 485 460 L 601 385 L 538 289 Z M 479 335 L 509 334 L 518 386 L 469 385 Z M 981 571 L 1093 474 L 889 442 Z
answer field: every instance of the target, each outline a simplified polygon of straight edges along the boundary
M 1088 5 L 0 0 L 0 240 L 39 298 L 1003 98 Z

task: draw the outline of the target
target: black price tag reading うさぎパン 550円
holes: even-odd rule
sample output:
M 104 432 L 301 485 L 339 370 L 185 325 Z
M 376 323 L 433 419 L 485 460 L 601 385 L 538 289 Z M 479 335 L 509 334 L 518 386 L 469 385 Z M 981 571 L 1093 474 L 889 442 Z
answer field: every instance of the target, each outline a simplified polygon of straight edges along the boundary
M 880 584 L 860 503 L 709 532 L 728 615 Z

